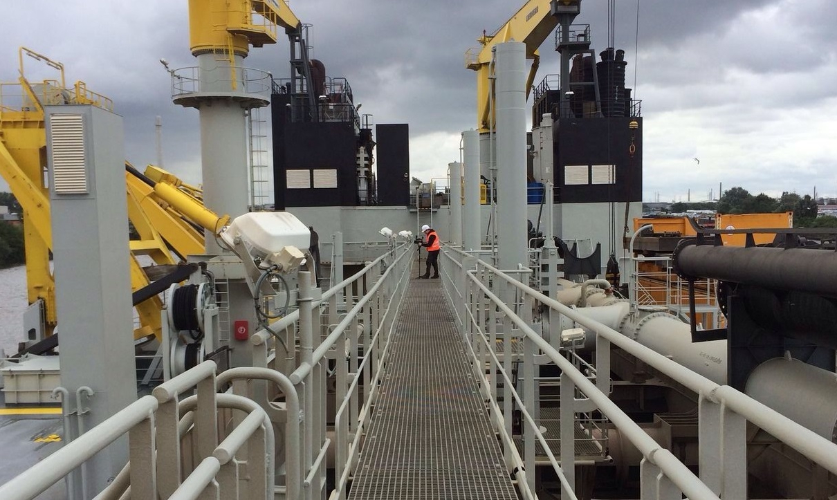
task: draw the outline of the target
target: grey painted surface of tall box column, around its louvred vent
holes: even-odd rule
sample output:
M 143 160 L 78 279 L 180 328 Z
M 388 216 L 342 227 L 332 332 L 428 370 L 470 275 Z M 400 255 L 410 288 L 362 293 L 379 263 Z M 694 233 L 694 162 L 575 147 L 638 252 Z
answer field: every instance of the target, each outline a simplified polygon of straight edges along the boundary
M 81 398 L 82 406 L 90 407 L 83 417 L 90 429 L 136 400 L 128 238 L 117 237 L 128 232 L 124 137 L 119 115 L 86 105 L 47 108 L 50 176 L 49 120 L 68 113 L 84 117 L 89 192 L 50 192 L 55 298 L 61 318 L 61 384 L 70 394 L 83 386 L 95 392 Z M 52 177 L 49 184 L 54 186 Z M 71 431 L 65 429 L 65 439 L 73 436 Z M 122 438 L 94 457 L 82 496 L 104 488 L 125 465 L 127 452 Z

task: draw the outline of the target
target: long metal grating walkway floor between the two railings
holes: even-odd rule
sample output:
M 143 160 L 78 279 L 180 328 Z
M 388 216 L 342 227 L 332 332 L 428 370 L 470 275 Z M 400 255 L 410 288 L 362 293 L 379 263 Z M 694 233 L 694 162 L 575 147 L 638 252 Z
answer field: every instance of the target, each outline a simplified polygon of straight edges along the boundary
M 516 500 L 438 279 L 413 279 L 349 500 Z

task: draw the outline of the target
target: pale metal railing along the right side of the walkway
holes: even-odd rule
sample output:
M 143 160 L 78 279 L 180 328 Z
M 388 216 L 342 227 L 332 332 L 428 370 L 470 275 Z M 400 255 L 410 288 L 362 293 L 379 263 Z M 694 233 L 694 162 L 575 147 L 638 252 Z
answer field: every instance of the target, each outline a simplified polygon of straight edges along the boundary
M 777 411 L 753 400 L 728 385 L 718 385 L 706 377 L 677 364 L 624 334 L 588 318 L 581 311 L 564 306 L 552 298 L 511 278 L 507 273 L 477 260 L 467 253 L 443 247 L 443 284 L 460 326 L 460 332 L 475 363 L 475 376 L 496 430 L 505 447 L 507 467 L 518 471 L 524 497 L 534 495 L 534 477 L 524 471 L 535 470 L 534 443 L 539 441 L 559 477 L 562 492 L 574 497 L 575 437 L 577 414 L 598 410 L 642 453 L 640 462 L 641 497 L 744 498 L 747 495 L 747 421 L 783 441 L 797 452 L 831 473 L 837 473 L 837 444 L 828 441 Z M 512 310 L 508 298 L 521 294 L 521 310 Z M 540 314 L 538 312 L 540 311 Z M 536 317 L 536 314 L 538 316 Z M 544 335 L 548 322 L 581 326 L 595 339 L 595 382 L 567 360 Z M 543 331 L 536 331 L 540 328 Z M 548 336 L 548 335 L 547 335 Z M 502 340 L 503 350 L 494 346 Z M 512 340 L 522 344 L 520 353 L 511 350 Z M 554 342 L 554 339 L 553 339 Z M 698 398 L 698 462 L 700 477 L 660 446 L 614 401 L 610 401 L 610 351 L 619 347 L 654 370 L 693 391 Z M 522 364 L 523 380 L 534 380 L 537 358 L 545 357 L 562 373 L 560 460 L 556 460 L 537 426 L 534 384 L 523 384 L 523 394 L 514 390 L 512 362 Z M 496 375 L 497 374 L 497 375 Z M 598 376 L 601 374 L 601 376 Z M 500 393 L 500 390 L 502 392 Z M 580 390 L 584 398 L 576 398 Z M 502 395 L 502 408 L 498 405 Z M 524 423 L 523 446 L 518 452 L 511 440 L 512 402 L 521 408 Z M 522 455 L 522 456 L 521 456 Z

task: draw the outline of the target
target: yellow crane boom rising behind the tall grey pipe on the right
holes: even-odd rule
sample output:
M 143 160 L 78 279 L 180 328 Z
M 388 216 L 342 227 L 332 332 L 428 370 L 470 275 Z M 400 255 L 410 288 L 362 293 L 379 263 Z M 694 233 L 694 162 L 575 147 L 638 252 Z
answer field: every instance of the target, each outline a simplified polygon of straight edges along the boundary
M 497 43 L 511 42 L 512 40 L 526 43 L 526 59 L 532 59 L 531 68 L 526 77 L 526 97 L 528 98 L 540 63 L 541 56 L 537 49 L 558 24 L 557 17 L 553 15 L 555 6 L 557 4 L 573 5 L 580 2 L 581 0 L 528 0 L 494 34 L 483 33 L 480 38 L 477 38 L 482 47 L 470 49 L 465 54 L 465 67 L 477 72 L 476 110 L 477 128 L 480 133 L 494 129 L 492 111 L 494 97 L 491 91 L 493 75 L 490 68 L 494 46 Z

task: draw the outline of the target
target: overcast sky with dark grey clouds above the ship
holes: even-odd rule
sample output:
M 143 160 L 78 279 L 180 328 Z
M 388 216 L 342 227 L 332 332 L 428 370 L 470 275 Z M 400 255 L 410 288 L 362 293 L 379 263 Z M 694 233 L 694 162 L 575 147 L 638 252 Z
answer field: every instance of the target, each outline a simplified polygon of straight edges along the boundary
M 311 23 L 313 57 L 346 77 L 373 123 L 408 123 L 411 174 L 444 177 L 475 127 L 475 74 L 464 53 L 523 1 L 294 0 Z M 637 10 L 639 9 L 639 24 Z M 825 0 L 616 2 L 617 48 L 627 84 L 642 99 L 644 201 L 704 200 L 719 183 L 753 194 L 837 196 L 837 3 Z M 585 0 L 575 23 L 607 46 L 607 2 Z M 64 63 L 68 82 L 108 95 L 125 118 L 126 156 L 157 160 L 200 181 L 198 112 L 172 104 L 168 74 L 193 66 L 186 0 L 4 0 L 0 81 L 17 78 L 18 45 Z M 558 73 L 553 38 L 536 78 Z M 290 74 L 289 48 L 253 48 L 245 65 Z M 54 78 L 28 59 L 30 79 Z M 30 73 L 31 70 L 31 73 Z M 266 116 L 267 113 L 263 111 Z M 699 159 L 699 162 L 694 160 Z M 243 169 L 244 171 L 244 169 Z M 7 190 L 0 181 L 0 190 Z

